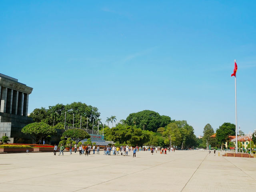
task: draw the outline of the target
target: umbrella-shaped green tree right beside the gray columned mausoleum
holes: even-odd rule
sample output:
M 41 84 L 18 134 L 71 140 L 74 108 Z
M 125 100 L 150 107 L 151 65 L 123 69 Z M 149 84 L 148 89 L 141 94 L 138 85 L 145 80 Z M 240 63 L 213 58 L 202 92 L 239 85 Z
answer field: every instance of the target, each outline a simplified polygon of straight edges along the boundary
M 46 139 L 48 135 L 54 135 L 57 133 L 52 126 L 44 122 L 30 123 L 24 126 L 21 132 L 29 134 L 36 143 L 39 143 L 40 140 L 42 141 L 43 139 Z

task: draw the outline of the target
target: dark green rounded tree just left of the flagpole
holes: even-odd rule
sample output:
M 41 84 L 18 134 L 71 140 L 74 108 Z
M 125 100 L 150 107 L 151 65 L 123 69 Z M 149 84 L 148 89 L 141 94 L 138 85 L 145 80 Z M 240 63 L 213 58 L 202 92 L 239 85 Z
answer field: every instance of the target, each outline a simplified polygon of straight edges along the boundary
M 218 143 L 222 146 L 229 140 L 228 136 L 234 136 L 236 134 L 236 126 L 231 123 L 224 123 L 216 130 L 216 138 Z

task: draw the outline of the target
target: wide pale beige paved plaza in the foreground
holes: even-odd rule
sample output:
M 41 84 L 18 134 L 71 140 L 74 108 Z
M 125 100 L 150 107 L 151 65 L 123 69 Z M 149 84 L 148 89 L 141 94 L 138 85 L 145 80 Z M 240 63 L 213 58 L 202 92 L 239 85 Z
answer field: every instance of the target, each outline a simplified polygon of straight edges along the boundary
M 77 152 L 0 154 L 3 192 L 241 192 L 256 188 L 256 158 L 214 156 L 207 151 L 136 158 Z

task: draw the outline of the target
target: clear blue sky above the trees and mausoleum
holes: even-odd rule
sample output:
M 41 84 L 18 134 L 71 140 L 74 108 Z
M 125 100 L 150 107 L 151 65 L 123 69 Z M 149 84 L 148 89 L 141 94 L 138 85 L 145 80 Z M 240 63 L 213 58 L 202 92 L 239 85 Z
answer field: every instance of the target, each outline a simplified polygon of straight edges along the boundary
M 195 134 L 256 128 L 255 1 L 1 1 L 0 73 L 33 87 L 29 110 L 71 102 L 103 121 L 154 110 Z

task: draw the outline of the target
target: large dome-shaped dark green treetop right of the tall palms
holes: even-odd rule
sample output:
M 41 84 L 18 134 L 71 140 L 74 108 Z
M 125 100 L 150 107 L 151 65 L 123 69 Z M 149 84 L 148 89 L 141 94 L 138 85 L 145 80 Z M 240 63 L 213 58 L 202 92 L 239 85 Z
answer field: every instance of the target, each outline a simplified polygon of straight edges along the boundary
M 156 132 L 159 127 L 165 127 L 168 123 L 172 122 L 168 116 L 160 116 L 159 113 L 144 110 L 137 113 L 131 113 L 126 118 L 128 125 L 136 125 L 137 128 Z

